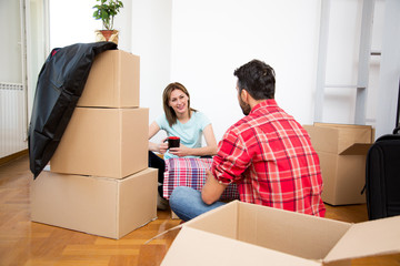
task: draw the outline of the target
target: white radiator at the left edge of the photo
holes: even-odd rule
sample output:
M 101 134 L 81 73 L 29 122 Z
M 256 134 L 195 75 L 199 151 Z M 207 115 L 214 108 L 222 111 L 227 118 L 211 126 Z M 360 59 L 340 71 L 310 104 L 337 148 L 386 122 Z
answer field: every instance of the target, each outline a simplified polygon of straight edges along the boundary
M 0 158 L 28 149 L 22 84 L 0 82 Z

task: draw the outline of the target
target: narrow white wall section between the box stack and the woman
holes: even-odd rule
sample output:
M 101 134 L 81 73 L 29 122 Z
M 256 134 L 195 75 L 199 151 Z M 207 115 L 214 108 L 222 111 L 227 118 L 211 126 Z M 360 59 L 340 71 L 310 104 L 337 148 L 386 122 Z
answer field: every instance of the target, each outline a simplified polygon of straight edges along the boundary
M 132 0 L 131 47 L 140 55 L 140 105 L 150 109 L 149 123 L 163 112 L 162 91 L 170 83 L 171 9 L 171 0 Z

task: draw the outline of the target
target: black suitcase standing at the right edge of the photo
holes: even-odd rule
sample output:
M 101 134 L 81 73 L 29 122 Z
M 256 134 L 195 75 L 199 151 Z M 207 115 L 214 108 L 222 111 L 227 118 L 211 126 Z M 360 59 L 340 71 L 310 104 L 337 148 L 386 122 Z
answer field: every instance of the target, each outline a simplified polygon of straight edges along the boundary
M 400 215 L 400 84 L 396 129 L 380 136 L 369 149 L 366 192 L 369 219 Z

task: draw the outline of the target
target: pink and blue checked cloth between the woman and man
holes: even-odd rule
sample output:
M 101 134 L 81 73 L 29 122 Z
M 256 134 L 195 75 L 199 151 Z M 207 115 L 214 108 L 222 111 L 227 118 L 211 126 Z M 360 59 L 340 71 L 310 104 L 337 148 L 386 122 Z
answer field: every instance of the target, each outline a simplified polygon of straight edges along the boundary
M 201 191 L 206 182 L 206 171 L 211 167 L 212 158 L 178 157 L 166 160 L 163 196 L 169 200 L 177 186 L 189 186 Z M 237 200 L 239 193 L 236 183 L 230 184 L 221 200 Z

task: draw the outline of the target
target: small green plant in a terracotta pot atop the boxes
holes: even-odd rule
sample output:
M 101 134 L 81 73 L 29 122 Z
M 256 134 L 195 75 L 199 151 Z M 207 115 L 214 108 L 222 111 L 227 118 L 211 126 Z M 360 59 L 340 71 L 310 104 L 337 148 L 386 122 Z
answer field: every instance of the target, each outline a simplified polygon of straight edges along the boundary
M 123 3 L 120 0 L 96 0 L 100 2 L 93 9 L 93 18 L 102 22 L 102 30 L 96 31 L 98 41 L 114 41 L 118 42 L 118 31 L 113 29 L 113 19 L 119 13 Z M 100 33 L 100 35 L 99 35 Z

